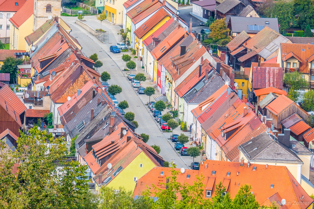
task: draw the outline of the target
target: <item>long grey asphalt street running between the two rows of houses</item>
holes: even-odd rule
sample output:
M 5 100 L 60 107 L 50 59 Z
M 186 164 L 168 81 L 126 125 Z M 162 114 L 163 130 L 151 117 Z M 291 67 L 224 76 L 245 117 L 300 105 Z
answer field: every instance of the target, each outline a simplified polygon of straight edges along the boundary
M 109 72 L 111 80 L 109 80 L 108 83 L 110 85 L 117 84 L 122 87 L 122 93 L 116 95 L 116 99 L 118 102 L 127 100 L 129 108 L 127 108 L 125 112 L 131 111 L 135 113 L 135 121 L 137 121 L 139 125 L 139 127 L 135 129 L 135 132 L 149 134 L 148 144 L 160 146 L 160 155 L 166 161 L 175 162 L 177 168 L 188 168 L 192 162 L 192 157 L 180 156 L 178 152 L 174 150 L 174 143 L 167 140 L 171 133 L 161 132 L 159 124 L 155 122 L 152 113 L 149 111 L 147 105 L 145 105 L 149 98 L 146 95 L 138 95 L 137 88 L 133 88 L 127 80 L 127 73 L 123 71 L 125 62 L 121 59 L 122 53 L 113 54 L 109 50 L 110 45 L 115 45 L 117 42 L 121 41 L 121 35 L 117 34 L 121 27 L 103 21 L 102 29 L 109 33 L 109 44 L 104 44 L 85 29 L 75 24 L 76 17 L 62 17 L 62 19 L 71 27 L 72 31 L 70 34 L 78 40 L 85 56 L 89 57 L 97 53 L 98 59 L 104 64 L 102 67 L 98 68 L 99 73 L 101 74 L 104 71 Z M 95 16 L 85 16 L 84 19 L 86 19 L 86 24 L 89 24 L 93 28 L 99 28 L 100 21 L 98 21 Z M 136 59 L 132 60 L 136 61 Z M 137 66 L 139 66 L 139 62 L 137 62 Z M 137 68 L 135 69 L 137 70 L 135 73 L 143 72 L 140 66 Z M 151 97 L 151 100 L 152 98 L 153 97 Z M 198 158 L 200 160 L 200 157 Z M 195 161 L 197 160 L 198 159 L 195 159 Z

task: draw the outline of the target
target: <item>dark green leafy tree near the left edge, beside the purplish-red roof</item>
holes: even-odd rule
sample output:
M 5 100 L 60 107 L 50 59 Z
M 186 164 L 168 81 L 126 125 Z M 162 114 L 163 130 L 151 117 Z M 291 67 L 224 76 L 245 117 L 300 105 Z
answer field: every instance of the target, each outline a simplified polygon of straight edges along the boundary
M 10 73 L 10 83 L 15 83 L 16 76 L 18 75 L 19 68 L 17 65 L 21 65 L 23 61 L 21 59 L 16 59 L 14 57 L 7 57 L 3 60 L 3 65 L 1 65 L 1 73 Z

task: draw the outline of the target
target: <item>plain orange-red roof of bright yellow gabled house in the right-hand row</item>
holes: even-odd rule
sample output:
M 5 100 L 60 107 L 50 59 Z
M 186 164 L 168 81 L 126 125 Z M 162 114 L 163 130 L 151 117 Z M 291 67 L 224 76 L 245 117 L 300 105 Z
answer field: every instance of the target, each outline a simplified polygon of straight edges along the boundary
M 138 27 L 134 31 L 134 34 L 140 39 L 145 35 L 150 29 L 152 29 L 156 24 L 158 24 L 163 18 L 169 16 L 169 14 L 164 10 L 160 9 L 151 18 L 149 18 L 145 23 Z

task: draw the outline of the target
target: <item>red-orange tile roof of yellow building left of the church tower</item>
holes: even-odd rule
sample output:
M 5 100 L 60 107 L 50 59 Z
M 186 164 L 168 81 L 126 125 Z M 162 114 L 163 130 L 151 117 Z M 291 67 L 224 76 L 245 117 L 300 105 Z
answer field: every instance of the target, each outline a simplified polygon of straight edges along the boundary
M 9 21 L 19 28 L 34 13 L 34 0 L 27 0 Z

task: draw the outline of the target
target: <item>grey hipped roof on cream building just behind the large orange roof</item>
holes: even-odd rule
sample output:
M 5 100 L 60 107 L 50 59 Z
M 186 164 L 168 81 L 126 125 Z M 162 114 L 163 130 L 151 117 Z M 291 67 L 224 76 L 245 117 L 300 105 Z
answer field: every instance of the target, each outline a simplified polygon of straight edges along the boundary
M 266 132 L 241 144 L 239 149 L 250 161 L 302 163 L 295 152 L 274 141 Z

